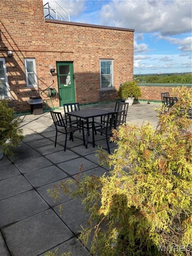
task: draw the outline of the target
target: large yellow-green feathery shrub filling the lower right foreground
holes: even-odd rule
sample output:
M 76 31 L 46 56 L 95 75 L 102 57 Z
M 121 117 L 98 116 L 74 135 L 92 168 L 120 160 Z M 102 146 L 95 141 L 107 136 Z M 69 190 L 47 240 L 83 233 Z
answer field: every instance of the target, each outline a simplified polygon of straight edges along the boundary
M 92 255 L 191 255 L 192 99 L 190 91 L 178 90 L 168 113 L 157 110 L 156 129 L 146 122 L 113 131 L 114 154 L 97 152 L 114 166 L 109 176 L 84 175 L 49 190 L 54 198 L 66 192 L 81 197 L 89 221 L 79 239 L 87 244 L 92 237 Z

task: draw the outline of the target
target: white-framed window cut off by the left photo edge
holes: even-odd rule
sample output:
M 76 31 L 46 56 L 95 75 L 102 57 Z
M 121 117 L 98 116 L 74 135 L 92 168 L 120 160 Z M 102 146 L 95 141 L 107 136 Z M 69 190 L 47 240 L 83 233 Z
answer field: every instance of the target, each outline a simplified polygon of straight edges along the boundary
M 0 99 L 10 98 L 7 68 L 4 58 L 0 58 Z

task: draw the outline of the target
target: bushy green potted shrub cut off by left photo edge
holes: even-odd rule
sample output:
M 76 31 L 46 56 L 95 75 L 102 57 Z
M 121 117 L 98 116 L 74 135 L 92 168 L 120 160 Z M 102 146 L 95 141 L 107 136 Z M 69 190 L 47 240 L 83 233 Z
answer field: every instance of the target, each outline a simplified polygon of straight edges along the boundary
M 20 120 L 15 117 L 13 108 L 8 107 L 8 101 L 0 100 L 0 160 L 3 154 L 13 154 L 10 148 L 19 145 L 24 138 L 23 130 L 19 129 Z

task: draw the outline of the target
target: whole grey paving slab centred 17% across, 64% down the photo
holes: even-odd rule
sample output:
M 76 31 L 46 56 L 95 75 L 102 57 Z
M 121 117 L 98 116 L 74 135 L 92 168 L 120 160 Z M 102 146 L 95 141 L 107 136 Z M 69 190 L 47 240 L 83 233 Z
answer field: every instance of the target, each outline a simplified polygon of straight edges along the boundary
M 43 156 L 25 159 L 15 163 L 15 166 L 19 169 L 21 173 L 31 172 L 50 165 L 53 164 Z

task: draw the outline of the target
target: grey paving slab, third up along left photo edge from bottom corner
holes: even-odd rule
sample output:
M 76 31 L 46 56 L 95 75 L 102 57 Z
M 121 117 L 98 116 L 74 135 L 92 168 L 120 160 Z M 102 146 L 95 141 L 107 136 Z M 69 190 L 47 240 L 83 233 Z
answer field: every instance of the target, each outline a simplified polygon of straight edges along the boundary
M 0 200 L 22 192 L 33 189 L 31 184 L 23 177 L 18 175 L 0 181 Z

